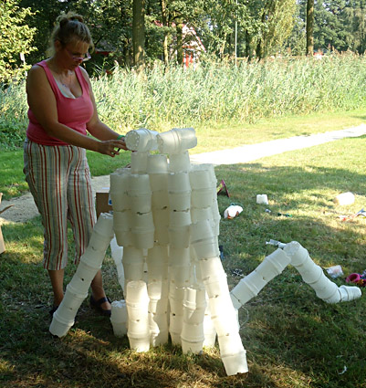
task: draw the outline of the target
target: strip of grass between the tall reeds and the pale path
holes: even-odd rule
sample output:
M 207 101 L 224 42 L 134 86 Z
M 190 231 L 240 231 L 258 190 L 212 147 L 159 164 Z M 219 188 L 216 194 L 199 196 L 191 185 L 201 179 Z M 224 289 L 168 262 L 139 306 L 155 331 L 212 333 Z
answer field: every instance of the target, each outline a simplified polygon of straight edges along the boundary
M 291 136 L 310 135 L 325 131 L 337 131 L 360 125 L 366 121 L 365 110 L 338 113 L 314 113 L 308 116 L 288 116 L 260 120 L 255 124 L 228 122 L 205 124 L 195 128 L 198 145 L 191 153 L 224 150 L 243 144 L 267 142 Z M 130 161 L 130 152 L 110 158 L 97 152 L 87 152 L 92 176 L 106 175 L 124 167 Z M 4 199 L 24 194 L 27 190 L 23 175 L 23 152 L 2 151 L 0 153 L 0 192 Z

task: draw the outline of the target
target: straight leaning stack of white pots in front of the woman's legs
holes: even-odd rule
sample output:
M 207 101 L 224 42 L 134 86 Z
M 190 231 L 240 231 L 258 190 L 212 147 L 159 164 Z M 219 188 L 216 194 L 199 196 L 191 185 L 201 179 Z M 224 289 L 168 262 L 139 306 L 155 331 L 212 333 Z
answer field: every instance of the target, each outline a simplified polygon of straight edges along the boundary
M 107 247 L 113 237 L 112 215 L 102 213 L 94 226 L 89 246 L 80 258 L 78 269 L 66 288 L 64 299 L 54 312 L 49 331 L 58 337 L 68 333 L 75 321 L 78 308 L 88 296 L 91 280 L 101 267 Z

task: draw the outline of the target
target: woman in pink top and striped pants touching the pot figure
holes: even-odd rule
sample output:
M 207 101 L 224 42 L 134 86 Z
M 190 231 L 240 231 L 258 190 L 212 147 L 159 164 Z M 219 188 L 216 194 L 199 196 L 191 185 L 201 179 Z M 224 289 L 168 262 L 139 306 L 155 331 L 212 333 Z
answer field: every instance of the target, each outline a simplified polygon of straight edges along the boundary
M 29 125 L 24 157 L 26 182 L 45 228 L 44 267 L 54 292 L 53 314 L 64 297 L 68 220 L 75 263 L 96 222 L 86 150 L 114 157 L 119 149 L 126 150 L 126 144 L 99 120 L 88 74 L 79 66 L 90 58 L 93 45 L 82 16 L 59 16 L 50 43 L 52 56 L 33 66 L 26 80 Z M 110 315 L 100 270 L 91 290 L 90 304 Z

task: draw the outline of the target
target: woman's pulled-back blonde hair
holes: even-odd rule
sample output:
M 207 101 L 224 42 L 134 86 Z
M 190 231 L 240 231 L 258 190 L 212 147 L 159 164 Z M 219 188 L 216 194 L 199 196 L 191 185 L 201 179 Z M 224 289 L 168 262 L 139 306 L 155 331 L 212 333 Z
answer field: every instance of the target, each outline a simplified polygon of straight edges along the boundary
M 49 38 L 47 55 L 52 56 L 55 53 L 55 42 L 57 40 L 63 46 L 68 45 L 70 42 L 81 41 L 88 43 L 91 49 L 94 48 L 93 39 L 88 26 L 84 23 L 84 18 L 73 12 L 62 13 L 56 19 L 56 26 Z

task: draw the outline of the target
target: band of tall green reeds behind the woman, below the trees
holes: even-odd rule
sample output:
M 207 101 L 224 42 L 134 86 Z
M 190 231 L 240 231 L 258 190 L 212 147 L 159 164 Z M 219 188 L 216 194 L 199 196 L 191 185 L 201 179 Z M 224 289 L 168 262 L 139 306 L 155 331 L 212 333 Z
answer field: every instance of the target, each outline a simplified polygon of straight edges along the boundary
M 343 54 L 321 60 L 274 58 L 238 67 L 205 63 L 164 71 L 155 66 L 143 76 L 115 68 L 111 76 L 99 76 L 92 84 L 99 116 L 112 128 L 162 131 L 210 122 L 253 122 L 288 114 L 357 109 L 366 101 L 365 65 L 365 57 Z M 24 83 L 0 90 L 0 142 L 11 135 L 9 129 L 16 135 L 25 128 Z

